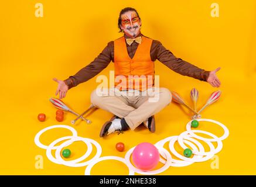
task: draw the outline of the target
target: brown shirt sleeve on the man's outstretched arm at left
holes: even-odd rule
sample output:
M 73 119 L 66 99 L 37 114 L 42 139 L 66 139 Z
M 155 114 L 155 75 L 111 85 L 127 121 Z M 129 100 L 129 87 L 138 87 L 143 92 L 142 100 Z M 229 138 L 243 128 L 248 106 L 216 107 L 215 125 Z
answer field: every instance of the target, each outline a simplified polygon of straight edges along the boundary
M 111 46 L 110 43 L 105 47 L 105 49 L 86 67 L 82 68 L 75 75 L 70 76 L 64 82 L 70 88 L 77 86 L 83 82 L 88 81 L 95 75 L 99 74 L 104 70 L 111 62 Z

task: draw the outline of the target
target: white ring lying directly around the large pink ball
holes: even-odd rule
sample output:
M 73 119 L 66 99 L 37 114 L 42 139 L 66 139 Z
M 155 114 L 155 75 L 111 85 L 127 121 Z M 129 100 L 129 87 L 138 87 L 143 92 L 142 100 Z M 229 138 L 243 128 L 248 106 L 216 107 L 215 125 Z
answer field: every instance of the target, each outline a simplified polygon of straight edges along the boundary
M 153 170 L 153 171 L 142 171 L 141 169 L 135 168 L 134 165 L 131 164 L 130 157 L 131 157 L 132 151 L 134 151 L 134 148 L 135 147 L 132 147 L 129 151 L 127 151 L 127 153 L 125 154 L 125 161 L 127 163 L 128 168 L 131 168 L 132 171 L 135 171 L 138 174 L 143 174 L 143 175 L 156 175 L 156 174 L 160 174 L 161 172 L 163 172 L 166 169 L 168 169 L 169 166 L 170 166 L 170 163 L 172 163 L 172 156 L 170 155 L 169 151 L 167 151 L 163 147 L 158 147 L 158 149 L 163 151 L 165 153 L 166 157 L 167 157 L 167 161 L 166 161 L 165 165 L 163 165 L 162 168 L 156 169 L 156 170 Z

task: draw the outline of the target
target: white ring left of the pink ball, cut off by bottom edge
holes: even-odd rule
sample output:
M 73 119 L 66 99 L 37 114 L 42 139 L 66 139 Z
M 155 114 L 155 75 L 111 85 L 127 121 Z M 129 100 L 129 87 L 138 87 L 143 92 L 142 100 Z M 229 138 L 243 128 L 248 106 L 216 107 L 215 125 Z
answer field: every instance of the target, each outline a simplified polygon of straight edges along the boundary
M 115 157 L 115 156 L 100 157 L 100 158 L 94 159 L 92 162 L 90 162 L 90 164 L 88 164 L 88 166 L 86 167 L 85 175 L 91 175 L 91 168 L 93 168 L 95 164 L 103 160 L 117 160 L 127 165 L 125 159 L 121 157 Z M 134 171 L 131 168 L 129 168 L 129 175 L 134 175 Z

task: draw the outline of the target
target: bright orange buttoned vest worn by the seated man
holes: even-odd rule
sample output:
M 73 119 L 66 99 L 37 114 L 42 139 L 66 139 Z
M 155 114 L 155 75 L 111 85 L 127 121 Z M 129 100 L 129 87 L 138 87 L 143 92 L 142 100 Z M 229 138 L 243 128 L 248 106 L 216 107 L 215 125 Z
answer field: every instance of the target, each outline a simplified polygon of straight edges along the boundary
M 127 51 L 125 37 L 114 40 L 115 88 L 139 91 L 152 88 L 155 75 L 154 63 L 150 56 L 152 41 L 142 36 L 141 44 L 131 58 Z

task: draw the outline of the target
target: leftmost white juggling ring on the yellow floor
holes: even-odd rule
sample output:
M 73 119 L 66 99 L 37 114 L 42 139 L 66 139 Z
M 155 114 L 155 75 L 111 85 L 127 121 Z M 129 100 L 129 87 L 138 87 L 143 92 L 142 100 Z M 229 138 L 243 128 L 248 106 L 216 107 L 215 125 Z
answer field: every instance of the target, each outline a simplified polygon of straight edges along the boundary
M 38 147 L 43 148 L 43 149 L 46 150 L 48 146 L 45 146 L 44 144 L 40 143 L 39 138 L 40 138 L 40 136 L 41 136 L 46 130 L 55 129 L 55 128 L 69 129 L 69 130 L 73 133 L 73 136 L 77 136 L 77 131 L 76 131 L 73 127 L 70 127 L 70 126 L 67 126 L 67 125 L 64 125 L 64 124 L 57 124 L 57 125 L 54 125 L 54 126 L 46 127 L 45 129 L 40 130 L 40 131 L 36 134 L 35 139 L 34 139 L 36 146 L 38 146 Z M 58 147 L 59 147 L 59 146 L 55 146 L 55 147 L 53 147 L 52 149 L 53 149 L 53 150 L 56 150 L 56 148 L 58 148 Z

